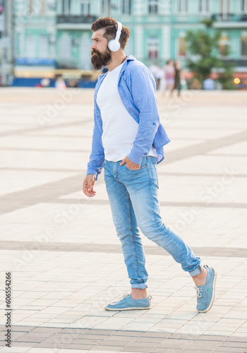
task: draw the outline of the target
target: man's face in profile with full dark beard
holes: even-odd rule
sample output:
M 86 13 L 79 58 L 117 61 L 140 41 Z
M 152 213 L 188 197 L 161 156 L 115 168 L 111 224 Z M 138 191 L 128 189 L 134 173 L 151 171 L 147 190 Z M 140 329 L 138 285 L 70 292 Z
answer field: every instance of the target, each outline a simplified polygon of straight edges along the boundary
M 92 33 L 91 62 L 95 70 L 100 70 L 112 61 L 112 52 L 108 49 L 108 40 L 103 35 L 104 28 Z

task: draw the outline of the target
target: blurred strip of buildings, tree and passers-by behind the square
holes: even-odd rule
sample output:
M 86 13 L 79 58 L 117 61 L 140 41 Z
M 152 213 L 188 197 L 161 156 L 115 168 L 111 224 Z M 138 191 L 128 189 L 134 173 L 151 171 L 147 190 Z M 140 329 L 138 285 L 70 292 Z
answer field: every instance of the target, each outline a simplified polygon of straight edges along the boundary
M 104 16 L 131 30 L 126 54 L 157 88 L 177 65 L 182 89 L 247 89 L 247 0 L 0 0 L 0 86 L 93 88 L 90 28 Z

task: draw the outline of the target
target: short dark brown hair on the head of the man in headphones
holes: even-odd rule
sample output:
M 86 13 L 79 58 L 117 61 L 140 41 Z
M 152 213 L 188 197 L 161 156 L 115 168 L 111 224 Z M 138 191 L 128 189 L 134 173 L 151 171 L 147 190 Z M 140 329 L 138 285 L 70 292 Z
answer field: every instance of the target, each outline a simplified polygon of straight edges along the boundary
M 97 30 L 101 30 L 102 28 L 105 28 L 103 37 L 106 38 L 108 42 L 109 40 L 114 40 L 114 38 L 116 37 L 116 30 L 117 30 L 116 20 L 114 20 L 114 18 L 112 17 L 100 17 L 98 20 L 92 23 L 92 26 L 91 26 L 92 32 L 96 32 Z M 121 36 L 119 38 L 121 49 L 125 48 L 128 42 L 129 35 L 130 35 L 130 30 L 128 30 L 128 28 L 123 26 L 121 30 Z

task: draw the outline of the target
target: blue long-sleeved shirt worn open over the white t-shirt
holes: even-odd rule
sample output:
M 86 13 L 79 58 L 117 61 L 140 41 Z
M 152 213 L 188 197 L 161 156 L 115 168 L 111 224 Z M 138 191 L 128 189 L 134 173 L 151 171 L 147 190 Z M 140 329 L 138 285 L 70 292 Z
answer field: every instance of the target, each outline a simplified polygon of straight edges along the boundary
M 99 76 L 95 87 L 95 126 L 87 169 L 87 175 L 94 175 L 96 180 L 104 163 L 102 117 L 96 100 L 97 92 L 106 75 L 107 73 L 104 73 Z M 155 79 L 152 73 L 134 56 L 128 56 L 119 73 L 118 89 L 128 114 L 138 123 L 138 132 L 128 158 L 131 162 L 140 164 L 143 155 L 147 155 L 153 146 L 157 152 L 157 162 L 161 162 L 164 160 L 164 145 L 169 143 L 170 139 L 159 123 Z

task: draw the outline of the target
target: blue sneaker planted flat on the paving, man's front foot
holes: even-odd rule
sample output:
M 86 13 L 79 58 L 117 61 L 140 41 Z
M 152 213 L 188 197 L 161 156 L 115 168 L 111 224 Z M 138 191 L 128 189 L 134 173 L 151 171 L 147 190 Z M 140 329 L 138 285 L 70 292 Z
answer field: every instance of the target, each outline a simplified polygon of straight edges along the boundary
M 106 310 L 110 311 L 123 311 L 123 310 L 143 310 L 150 309 L 151 299 L 149 296 L 145 299 L 133 299 L 130 294 L 123 294 L 123 297 L 119 298 L 119 301 L 114 301 L 113 303 L 107 304 L 104 307 Z

